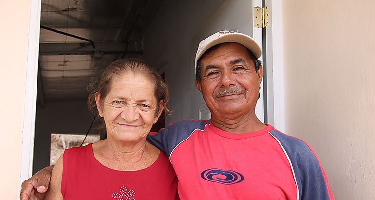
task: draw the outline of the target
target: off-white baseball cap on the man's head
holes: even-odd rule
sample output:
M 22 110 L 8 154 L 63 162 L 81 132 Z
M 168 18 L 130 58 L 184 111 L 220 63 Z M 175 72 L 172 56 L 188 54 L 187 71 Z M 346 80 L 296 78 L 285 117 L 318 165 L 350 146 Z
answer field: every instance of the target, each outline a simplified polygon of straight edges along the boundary
M 195 69 L 197 68 L 198 60 L 209 48 L 226 42 L 235 42 L 244 45 L 257 58 L 262 55 L 261 47 L 250 36 L 234 31 L 219 31 L 199 43 L 197 54 L 195 55 Z

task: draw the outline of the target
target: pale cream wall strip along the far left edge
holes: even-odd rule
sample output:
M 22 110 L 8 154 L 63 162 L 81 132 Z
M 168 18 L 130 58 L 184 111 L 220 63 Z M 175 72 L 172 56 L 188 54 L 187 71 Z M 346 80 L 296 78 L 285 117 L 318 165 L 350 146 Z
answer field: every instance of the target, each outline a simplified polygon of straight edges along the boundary
M 30 0 L 2 0 L 0 6 L 1 199 L 19 196 Z

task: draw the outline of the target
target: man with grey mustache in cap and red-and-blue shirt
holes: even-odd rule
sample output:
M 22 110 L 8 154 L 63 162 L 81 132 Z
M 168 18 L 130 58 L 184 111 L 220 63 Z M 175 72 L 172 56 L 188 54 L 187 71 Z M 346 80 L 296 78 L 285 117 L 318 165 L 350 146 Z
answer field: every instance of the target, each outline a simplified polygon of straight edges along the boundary
M 165 151 L 176 171 L 182 200 L 333 199 L 311 147 L 255 115 L 262 52 L 249 36 L 220 31 L 198 47 L 195 85 L 210 120 L 182 120 L 148 141 Z M 25 181 L 34 192 L 48 170 Z M 45 185 L 47 187 L 48 185 Z

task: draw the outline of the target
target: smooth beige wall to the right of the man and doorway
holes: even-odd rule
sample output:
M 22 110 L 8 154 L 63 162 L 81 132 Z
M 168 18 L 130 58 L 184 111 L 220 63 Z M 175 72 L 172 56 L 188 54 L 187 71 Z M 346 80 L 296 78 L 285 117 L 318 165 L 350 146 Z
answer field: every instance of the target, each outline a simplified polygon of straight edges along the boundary
M 375 1 L 283 1 L 286 130 L 338 200 L 375 199 Z

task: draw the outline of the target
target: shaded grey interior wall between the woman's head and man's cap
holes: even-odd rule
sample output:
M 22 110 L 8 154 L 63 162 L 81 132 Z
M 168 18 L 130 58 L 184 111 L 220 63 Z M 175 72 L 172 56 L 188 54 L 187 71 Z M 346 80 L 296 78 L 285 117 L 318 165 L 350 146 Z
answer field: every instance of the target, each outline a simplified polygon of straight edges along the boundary
M 161 5 L 145 35 L 144 59 L 165 72 L 174 110 L 167 122 L 198 119 L 206 104 L 194 84 L 195 53 L 201 40 L 225 29 L 252 35 L 252 1 L 165 0 Z

